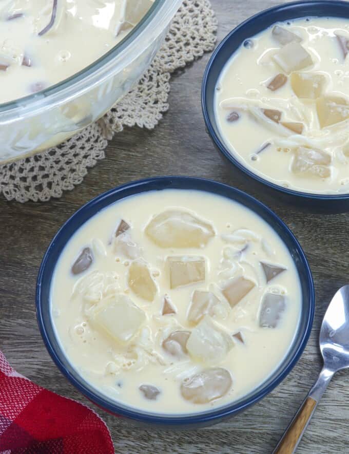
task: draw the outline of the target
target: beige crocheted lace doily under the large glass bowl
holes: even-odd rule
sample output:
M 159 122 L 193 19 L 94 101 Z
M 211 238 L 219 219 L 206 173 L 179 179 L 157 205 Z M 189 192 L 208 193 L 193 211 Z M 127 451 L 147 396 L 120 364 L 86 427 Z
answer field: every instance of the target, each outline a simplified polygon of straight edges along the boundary
M 151 66 L 98 122 L 46 152 L 0 166 L 0 193 L 18 202 L 61 197 L 80 184 L 124 126 L 154 128 L 168 110 L 170 73 L 214 48 L 217 20 L 208 0 L 184 0 Z

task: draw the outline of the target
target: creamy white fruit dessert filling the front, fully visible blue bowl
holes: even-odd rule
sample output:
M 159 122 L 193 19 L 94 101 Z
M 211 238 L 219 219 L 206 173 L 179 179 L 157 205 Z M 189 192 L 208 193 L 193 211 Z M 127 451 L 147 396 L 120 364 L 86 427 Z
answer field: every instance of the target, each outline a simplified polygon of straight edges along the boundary
M 50 310 L 77 372 L 109 399 L 201 412 L 249 393 L 297 330 L 287 248 L 243 205 L 163 190 L 110 205 L 67 242 Z

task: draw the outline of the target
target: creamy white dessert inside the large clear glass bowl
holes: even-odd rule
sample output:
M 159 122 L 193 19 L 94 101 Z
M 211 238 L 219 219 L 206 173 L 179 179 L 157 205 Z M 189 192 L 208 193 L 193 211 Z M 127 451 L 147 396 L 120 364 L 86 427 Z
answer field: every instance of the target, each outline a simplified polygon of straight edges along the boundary
M 2 0 L 0 103 L 86 68 L 139 23 L 152 0 Z

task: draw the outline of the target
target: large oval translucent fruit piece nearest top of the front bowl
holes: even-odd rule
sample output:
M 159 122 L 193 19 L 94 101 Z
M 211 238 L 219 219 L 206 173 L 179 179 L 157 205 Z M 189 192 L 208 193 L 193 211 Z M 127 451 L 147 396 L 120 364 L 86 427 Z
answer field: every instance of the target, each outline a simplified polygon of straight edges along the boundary
M 165 211 L 154 217 L 145 233 L 161 248 L 199 248 L 215 236 L 211 224 L 179 210 Z

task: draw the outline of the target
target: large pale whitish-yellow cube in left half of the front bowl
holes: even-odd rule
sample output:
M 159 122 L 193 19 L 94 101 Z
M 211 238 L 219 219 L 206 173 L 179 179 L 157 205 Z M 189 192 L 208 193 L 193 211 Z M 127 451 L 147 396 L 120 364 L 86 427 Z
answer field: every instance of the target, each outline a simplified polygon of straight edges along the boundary
M 115 341 L 128 342 L 146 319 L 145 313 L 127 296 L 114 295 L 101 302 L 92 321 Z

